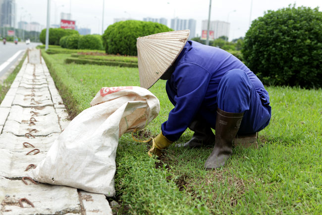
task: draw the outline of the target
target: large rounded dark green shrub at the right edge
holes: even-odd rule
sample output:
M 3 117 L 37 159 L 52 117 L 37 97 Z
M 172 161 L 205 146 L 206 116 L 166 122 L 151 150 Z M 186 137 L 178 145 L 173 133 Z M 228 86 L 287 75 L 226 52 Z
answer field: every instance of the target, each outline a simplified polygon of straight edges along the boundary
M 322 87 L 322 12 L 268 10 L 247 31 L 242 54 L 265 84 Z

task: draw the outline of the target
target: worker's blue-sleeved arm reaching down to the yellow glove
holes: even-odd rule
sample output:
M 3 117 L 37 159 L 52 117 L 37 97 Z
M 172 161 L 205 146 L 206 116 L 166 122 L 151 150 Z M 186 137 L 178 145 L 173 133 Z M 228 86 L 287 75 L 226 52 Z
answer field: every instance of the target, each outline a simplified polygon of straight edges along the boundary
M 170 80 L 176 90 L 175 107 L 161 126 L 167 140 L 176 141 L 188 128 L 204 100 L 210 78 L 211 74 L 196 64 L 176 67 Z

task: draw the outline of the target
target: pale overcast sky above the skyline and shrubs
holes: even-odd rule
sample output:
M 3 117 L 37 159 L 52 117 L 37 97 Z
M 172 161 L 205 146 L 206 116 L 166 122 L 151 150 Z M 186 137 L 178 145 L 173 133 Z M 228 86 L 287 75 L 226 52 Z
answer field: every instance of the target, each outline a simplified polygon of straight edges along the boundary
M 210 0 L 105 0 L 104 30 L 114 18 L 164 17 L 170 27 L 170 19 L 178 17 L 195 19 L 196 34 L 200 36 L 201 22 L 208 19 L 209 3 Z M 211 20 L 230 22 L 230 39 L 239 38 L 245 36 L 250 20 L 294 3 L 319 6 L 322 11 L 322 0 L 212 0 Z M 46 26 L 47 0 L 16 0 L 16 5 L 17 22 L 31 20 Z M 59 23 L 60 12 L 71 12 L 78 27 L 91 28 L 92 34 L 102 33 L 103 0 L 51 0 L 51 24 Z

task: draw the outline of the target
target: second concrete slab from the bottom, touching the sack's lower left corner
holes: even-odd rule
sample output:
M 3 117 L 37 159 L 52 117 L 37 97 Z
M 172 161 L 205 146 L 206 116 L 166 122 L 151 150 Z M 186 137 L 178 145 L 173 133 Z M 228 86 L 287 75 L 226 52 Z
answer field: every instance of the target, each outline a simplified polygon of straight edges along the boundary
M 37 146 L 36 146 L 37 147 Z M 27 148 L 27 152 L 12 152 L 7 149 L 0 149 L 0 176 L 15 180 L 28 176 L 26 168 L 29 164 L 37 165 L 46 157 L 46 152 L 33 151 L 35 148 Z M 37 153 L 37 154 L 34 154 Z

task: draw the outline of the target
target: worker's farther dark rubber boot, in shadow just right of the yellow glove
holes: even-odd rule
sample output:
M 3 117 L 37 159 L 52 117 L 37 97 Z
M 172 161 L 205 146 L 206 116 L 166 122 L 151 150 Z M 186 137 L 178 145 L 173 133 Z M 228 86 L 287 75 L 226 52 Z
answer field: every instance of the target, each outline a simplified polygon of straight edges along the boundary
M 200 147 L 202 145 L 214 145 L 215 135 L 210 126 L 201 121 L 194 120 L 189 125 L 189 129 L 194 131 L 192 138 L 187 143 L 177 144 L 178 147 Z

